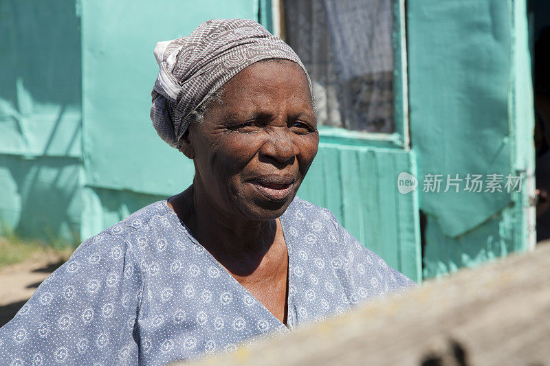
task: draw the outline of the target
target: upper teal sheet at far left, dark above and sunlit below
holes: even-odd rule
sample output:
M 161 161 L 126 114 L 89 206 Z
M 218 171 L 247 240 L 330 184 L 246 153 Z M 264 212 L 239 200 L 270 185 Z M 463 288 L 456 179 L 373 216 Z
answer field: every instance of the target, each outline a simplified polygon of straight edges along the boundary
M 75 3 L 1 1 L 0 34 L 0 154 L 80 157 Z

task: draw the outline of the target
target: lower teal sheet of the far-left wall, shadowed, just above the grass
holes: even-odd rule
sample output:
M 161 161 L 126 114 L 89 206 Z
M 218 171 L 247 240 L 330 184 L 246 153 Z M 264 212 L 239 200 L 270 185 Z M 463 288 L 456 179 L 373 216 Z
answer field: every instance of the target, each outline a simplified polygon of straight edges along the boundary
M 8 188 L 0 194 L 6 197 L 3 221 L 12 222 L 21 238 L 43 238 L 52 246 L 79 244 L 80 169 L 78 159 L 41 157 L 37 163 L 0 155 L 0 186 Z

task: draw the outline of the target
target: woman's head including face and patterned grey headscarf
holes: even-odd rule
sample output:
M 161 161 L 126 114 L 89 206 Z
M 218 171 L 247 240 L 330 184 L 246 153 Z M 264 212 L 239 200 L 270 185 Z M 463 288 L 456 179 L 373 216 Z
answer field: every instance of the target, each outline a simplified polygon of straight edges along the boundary
M 194 48 L 177 40 L 179 47 L 163 46 L 168 56 L 155 50 L 157 60 L 167 62 L 159 62 L 153 125 L 194 161 L 195 189 L 208 192 L 218 211 L 276 218 L 294 198 L 318 148 L 309 76 L 292 49 L 258 23 L 205 24 L 188 37 L 195 38 Z M 163 69 L 172 72 L 168 87 Z M 170 85 L 176 75 L 177 85 Z

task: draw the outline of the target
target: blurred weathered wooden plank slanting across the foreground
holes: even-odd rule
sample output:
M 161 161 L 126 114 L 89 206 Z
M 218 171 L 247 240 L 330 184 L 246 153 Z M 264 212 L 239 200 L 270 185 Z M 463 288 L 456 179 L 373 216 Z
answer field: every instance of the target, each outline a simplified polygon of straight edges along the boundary
M 197 365 L 548 365 L 550 244 Z

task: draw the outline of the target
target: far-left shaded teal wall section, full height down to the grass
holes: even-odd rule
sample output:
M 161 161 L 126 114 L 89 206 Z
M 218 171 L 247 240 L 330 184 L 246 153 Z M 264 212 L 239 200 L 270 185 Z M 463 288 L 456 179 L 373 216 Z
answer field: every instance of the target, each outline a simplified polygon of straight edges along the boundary
M 0 1 L 0 34 L 2 231 L 78 243 L 78 1 Z

